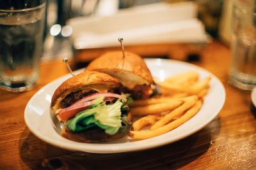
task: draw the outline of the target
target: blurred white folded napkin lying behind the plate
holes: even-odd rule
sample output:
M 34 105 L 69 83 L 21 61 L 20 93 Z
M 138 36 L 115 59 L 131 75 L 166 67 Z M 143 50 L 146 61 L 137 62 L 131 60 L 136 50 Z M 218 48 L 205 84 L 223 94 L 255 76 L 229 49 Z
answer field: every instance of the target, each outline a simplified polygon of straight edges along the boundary
M 104 48 L 153 43 L 204 43 L 204 25 L 196 18 L 193 2 L 156 3 L 120 10 L 108 17 L 79 17 L 68 20 L 74 48 Z

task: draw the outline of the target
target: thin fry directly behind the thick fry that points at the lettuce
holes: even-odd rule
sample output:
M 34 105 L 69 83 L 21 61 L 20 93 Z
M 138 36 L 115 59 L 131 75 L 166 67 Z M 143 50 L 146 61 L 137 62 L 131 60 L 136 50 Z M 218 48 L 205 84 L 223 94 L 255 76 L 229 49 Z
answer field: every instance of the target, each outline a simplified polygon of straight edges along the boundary
M 134 101 L 130 106 L 138 107 L 138 106 L 147 106 L 150 104 L 157 104 L 157 103 L 170 103 L 172 101 L 177 101 L 179 99 L 173 99 L 173 97 L 152 97 L 150 99 L 142 99 L 138 101 Z

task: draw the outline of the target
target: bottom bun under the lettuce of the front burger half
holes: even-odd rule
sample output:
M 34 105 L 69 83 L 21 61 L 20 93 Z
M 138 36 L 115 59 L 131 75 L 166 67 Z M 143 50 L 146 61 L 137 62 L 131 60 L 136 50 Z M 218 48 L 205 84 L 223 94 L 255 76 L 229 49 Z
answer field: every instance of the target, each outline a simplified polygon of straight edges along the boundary
M 132 114 L 128 114 L 128 119 L 132 121 Z M 64 138 L 70 139 L 72 141 L 79 141 L 79 142 L 102 142 L 102 141 L 111 141 L 113 139 L 119 139 L 127 135 L 128 131 L 131 130 L 131 127 L 125 129 L 125 131 L 118 131 L 114 135 L 109 135 L 104 132 L 103 129 L 96 128 L 91 130 L 86 130 L 82 132 L 71 132 L 67 129 L 67 127 L 63 128 L 61 131 L 61 136 Z

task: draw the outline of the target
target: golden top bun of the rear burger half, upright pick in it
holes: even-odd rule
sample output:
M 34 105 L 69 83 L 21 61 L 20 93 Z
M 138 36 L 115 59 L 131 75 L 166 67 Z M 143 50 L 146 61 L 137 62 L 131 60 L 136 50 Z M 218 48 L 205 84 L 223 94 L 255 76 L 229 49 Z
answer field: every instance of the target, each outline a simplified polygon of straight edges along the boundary
M 153 83 L 150 71 L 144 60 L 132 52 L 107 52 L 93 60 L 87 71 L 99 71 L 118 78 L 121 83 L 130 89 L 135 85 L 150 85 Z

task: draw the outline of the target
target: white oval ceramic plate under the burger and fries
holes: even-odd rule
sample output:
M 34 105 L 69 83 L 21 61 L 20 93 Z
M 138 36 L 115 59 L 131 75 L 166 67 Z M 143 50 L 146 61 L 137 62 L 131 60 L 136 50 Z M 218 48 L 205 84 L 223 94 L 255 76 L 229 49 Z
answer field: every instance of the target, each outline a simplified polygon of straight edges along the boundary
M 201 110 L 188 120 L 188 122 L 180 125 L 180 127 L 177 127 L 173 131 L 150 139 L 136 141 L 126 136 L 122 139 L 108 143 L 79 143 L 61 137 L 52 127 L 52 120 L 49 113 L 50 103 L 54 90 L 64 80 L 70 77 L 69 74 L 52 81 L 36 92 L 25 109 L 24 117 L 26 124 L 35 136 L 60 148 L 91 153 L 118 153 L 145 150 L 173 143 L 174 141 L 199 131 L 218 115 L 225 102 L 225 90 L 221 81 L 218 80 L 216 76 L 201 67 L 186 62 L 166 59 L 145 59 L 145 61 L 153 76 L 160 80 L 163 80 L 172 74 L 188 70 L 198 71 L 198 73 L 200 73 L 200 78 L 212 76 L 211 87 L 205 97 Z

